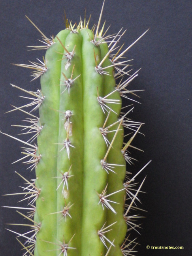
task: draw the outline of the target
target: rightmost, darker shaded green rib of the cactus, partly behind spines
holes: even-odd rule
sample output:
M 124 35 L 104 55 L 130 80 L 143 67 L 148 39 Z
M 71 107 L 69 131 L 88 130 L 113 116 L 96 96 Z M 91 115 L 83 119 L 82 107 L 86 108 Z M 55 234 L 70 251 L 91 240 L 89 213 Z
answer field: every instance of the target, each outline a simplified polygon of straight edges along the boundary
M 102 53 L 103 53 L 102 58 L 104 58 L 104 56 L 108 50 L 107 43 L 103 43 L 100 47 L 102 48 Z M 111 61 L 109 60 L 109 58 L 107 58 L 102 66 L 107 67 L 110 65 L 111 65 Z M 105 95 L 108 95 L 115 90 L 115 79 L 113 78 L 114 69 L 113 69 L 113 67 L 111 67 L 111 68 L 108 68 L 107 71 L 109 72 L 110 76 L 109 75 L 104 76 Z M 110 97 L 110 99 L 119 100 L 120 104 L 108 104 L 109 107 L 113 111 L 115 111 L 117 114 L 115 114 L 113 111 L 111 111 L 111 113 L 109 115 L 109 119 L 107 120 L 106 126 L 109 126 L 119 120 L 121 102 L 122 102 L 118 91 L 114 92 L 109 97 Z M 109 130 L 116 130 L 118 128 L 118 126 L 119 126 L 119 122 L 117 124 L 115 124 L 114 126 L 112 126 Z M 109 141 L 112 141 L 114 134 L 115 134 L 115 132 L 108 133 Z M 121 166 L 115 166 L 115 169 L 114 169 L 115 173 L 109 172 L 107 194 L 111 194 L 115 191 L 122 190 L 124 188 L 123 181 L 125 179 L 125 174 L 126 174 L 126 168 L 125 168 L 126 162 L 125 162 L 124 156 L 122 155 L 122 152 L 121 152 L 123 138 L 124 138 L 123 136 L 124 136 L 124 129 L 123 129 L 123 126 L 121 125 L 119 132 L 117 134 L 117 137 L 115 138 L 115 141 L 113 142 L 113 147 L 111 148 L 111 150 L 109 151 L 109 154 L 107 156 L 107 162 L 109 164 L 118 164 Z M 109 254 L 110 256 L 122 255 L 120 246 L 122 245 L 122 243 L 124 241 L 124 237 L 125 237 L 126 231 L 127 231 L 127 224 L 123 217 L 125 198 L 126 198 L 125 190 L 122 190 L 116 194 L 113 194 L 110 197 L 110 200 L 118 203 L 115 205 L 113 204 L 114 209 L 117 212 L 116 215 L 112 211 L 107 211 L 107 226 L 117 221 L 117 224 L 114 224 L 113 227 L 111 227 L 111 228 L 113 228 L 113 230 L 111 230 L 108 233 L 108 237 L 109 237 L 110 241 L 113 241 L 113 239 L 115 238 L 115 241 L 114 241 L 115 247 L 111 248 L 110 254 Z

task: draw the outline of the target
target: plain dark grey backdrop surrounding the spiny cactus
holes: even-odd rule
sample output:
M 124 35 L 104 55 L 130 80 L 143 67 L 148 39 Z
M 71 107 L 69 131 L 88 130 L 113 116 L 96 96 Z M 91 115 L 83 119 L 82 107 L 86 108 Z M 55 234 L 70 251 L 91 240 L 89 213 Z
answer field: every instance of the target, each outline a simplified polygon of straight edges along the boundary
M 122 41 L 130 45 L 145 30 L 147 34 L 126 54 L 134 58 L 134 70 L 142 67 L 131 88 L 140 92 L 133 119 L 145 122 L 144 136 L 137 136 L 134 146 L 145 152 L 133 152 L 139 162 L 132 167 L 136 172 L 149 160 L 151 164 L 141 173 L 147 179 L 140 194 L 143 209 L 148 213 L 142 219 L 141 235 L 138 235 L 137 255 L 190 255 L 192 245 L 192 161 L 191 161 L 191 42 L 192 2 L 190 0 L 119 0 L 105 1 L 104 16 L 109 33 L 123 26 L 127 32 Z M 30 83 L 30 72 L 10 63 L 27 63 L 42 58 L 43 51 L 27 51 L 27 45 L 37 45 L 39 32 L 24 17 L 27 15 L 47 36 L 56 35 L 64 28 L 62 18 L 73 23 L 92 13 L 91 24 L 97 23 L 102 0 L 6 0 L 0 1 L 0 129 L 17 136 L 22 113 L 4 112 L 10 104 L 19 106 L 19 91 L 11 88 L 14 83 L 36 90 L 39 80 Z M 14 173 L 26 174 L 25 166 L 11 165 L 20 155 L 17 141 L 0 135 L 0 194 L 14 193 L 23 181 Z M 28 173 L 33 177 L 34 173 Z M 0 205 L 15 205 L 17 197 L 1 197 Z M 141 205 L 138 205 L 139 207 Z M 0 255 L 22 255 L 15 234 L 5 230 L 5 223 L 21 223 L 22 218 L 13 209 L 0 209 Z M 9 227 L 8 227 L 9 228 Z M 12 227 L 11 227 L 12 228 Z M 14 228 L 13 228 L 14 229 Z M 19 230 L 19 227 L 14 230 Z M 137 235 L 137 234 L 136 234 Z M 184 250 L 147 250 L 146 246 L 183 246 Z

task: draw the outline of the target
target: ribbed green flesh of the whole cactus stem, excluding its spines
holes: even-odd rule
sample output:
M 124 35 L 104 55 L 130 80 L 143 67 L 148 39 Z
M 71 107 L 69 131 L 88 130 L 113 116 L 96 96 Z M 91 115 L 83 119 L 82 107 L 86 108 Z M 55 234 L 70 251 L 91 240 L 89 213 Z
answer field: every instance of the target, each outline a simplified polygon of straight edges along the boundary
M 64 256 L 105 255 L 107 248 L 98 235 L 105 222 L 105 227 L 117 222 L 108 228 L 111 231 L 104 233 L 111 242 L 115 239 L 115 248 L 111 248 L 109 256 L 122 256 L 120 246 L 126 234 L 123 218 L 125 192 L 107 198 L 118 203 L 110 203 L 117 214 L 105 205 L 103 209 L 99 194 L 107 184 L 105 195 L 124 188 L 123 130 L 121 127 L 106 159 L 109 164 L 123 166 L 116 166 L 116 173 L 109 171 L 108 174 L 100 162 L 104 159 L 107 146 L 99 129 L 108 113 L 104 114 L 98 103 L 98 94 L 104 97 L 115 90 L 115 79 L 113 68 L 105 70 L 109 75 L 96 72 L 95 58 L 99 64 L 108 47 L 107 44 L 95 46 L 90 41 L 93 37 L 92 31 L 87 28 L 77 33 L 63 30 L 58 38 L 67 51 L 72 52 L 75 47 L 72 60 L 66 58 L 68 53 L 57 39 L 45 55 L 48 70 L 41 76 L 45 100 L 40 107 L 43 130 L 38 136 L 41 160 L 36 168 L 36 185 L 41 192 L 36 200 L 34 218 L 36 222 L 41 222 L 41 228 L 37 233 L 35 256 L 59 255 L 64 244 L 72 247 L 66 250 L 67 254 L 62 252 Z M 102 66 L 109 65 L 111 62 L 107 58 Z M 66 78 L 74 79 L 70 88 L 66 87 Z M 110 95 L 109 99 L 120 100 L 119 92 Z M 121 104 L 107 105 L 117 113 L 110 113 L 109 125 L 118 120 Z M 72 113 L 69 118 L 66 118 L 66 111 Z M 111 130 L 118 126 L 119 123 Z M 109 141 L 114 134 L 109 133 Z M 67 179 L 67 187 L 62 177 L 68 171 L 71 177 Z M 67 207 L 68 214 L 65 216 L 62 211 Z M 105 242 L 109 247 L 110 243 Z

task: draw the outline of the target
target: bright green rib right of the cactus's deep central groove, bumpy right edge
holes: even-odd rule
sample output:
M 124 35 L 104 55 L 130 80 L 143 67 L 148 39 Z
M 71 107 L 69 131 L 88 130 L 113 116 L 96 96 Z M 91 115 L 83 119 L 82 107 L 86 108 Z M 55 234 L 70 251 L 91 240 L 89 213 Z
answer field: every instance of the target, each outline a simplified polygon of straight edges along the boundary
M 83 170 L 83 228 L 82 255 L 100 255 L 104 246 L 97 232 L 105 221 L 105 211 L 99 204 L 96 192 L 101 193 L 106 182 L 107 173 L 100 164 L 105 154 L 106 145 L 99 131 L 104 123 L 104 113 L 98 104 L 97 88 L 104 94 L 104 77 L 95 71 L 95 59 L 101 61 L 100 48 L 90 42 L 92 32 L 81 30 L 83 36 L 83 110 L 84 110 L 84 170 Z M 88 35 L 89 34 L 89 35 Z M 94 49 L 94 51 L 93 51 Z

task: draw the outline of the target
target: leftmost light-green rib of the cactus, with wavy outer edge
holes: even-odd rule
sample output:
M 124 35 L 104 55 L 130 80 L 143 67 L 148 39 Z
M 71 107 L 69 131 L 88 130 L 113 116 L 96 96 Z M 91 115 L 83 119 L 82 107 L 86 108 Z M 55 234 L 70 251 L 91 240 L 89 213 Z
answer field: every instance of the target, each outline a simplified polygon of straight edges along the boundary
M 65 40 L 70 31 L 63 30 L 59 37 Z M 56 176 L 57 170 L 57 148 L 58 141 L 58 112 L 59 109 L 59 81 L 61 62 L 58 61 L 61 55 L 56 52 L 63 52 L 62 46 L 55 39 L 53 44 L 46 52 L 45 60 L 47 72 L 41 76 L 41 91 L 45 99 L 40 106 L 40 123 L 43 129 L 38 136 L 38 153 L 41 160 L 36 168 L 36 186 L 41 189 L 40 195 L 36 200 L 36 213 L 34 220 L 41 223 L 41 228 L 37 234 L 35 254 L 37 256 L 52 256 L 56 252 L 49 250 L 55 249 L 56 238 L 56 215 L 48 215 L 56 212 L 57 192 Z M 49 241 L 47 243 L 44 241 Z

